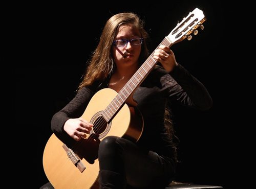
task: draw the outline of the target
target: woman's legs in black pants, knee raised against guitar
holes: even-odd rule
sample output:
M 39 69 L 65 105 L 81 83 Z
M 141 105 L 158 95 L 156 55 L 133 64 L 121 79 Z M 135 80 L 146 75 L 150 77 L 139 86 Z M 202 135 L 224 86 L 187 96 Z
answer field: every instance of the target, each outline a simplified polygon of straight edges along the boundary
M 145 151 L 130 140 L 108 136 L 99 145 L 101 188 L 164 188 L 175 172 L 172 159 Z

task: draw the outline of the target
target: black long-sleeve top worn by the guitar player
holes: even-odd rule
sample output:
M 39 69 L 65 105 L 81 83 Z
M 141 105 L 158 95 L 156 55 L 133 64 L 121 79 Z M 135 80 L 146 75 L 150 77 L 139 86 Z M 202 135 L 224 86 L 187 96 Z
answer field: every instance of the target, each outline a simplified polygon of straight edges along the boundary
M 83 87 L 70 103 L 54 114 L 51 128 L 59 139 L 64 143 L 73 140 L 63 130 L 63 125 L 68 119 L 80 117 L 93 95 L 105 87 L 108 87 L 108 81 L 100 87 L 97 82 Z M 136 89 L 133 98 L 144 120 L 138 145 L 167 157 L 174 156 L 174 149 L 164 127 L 166 102 L 177 101 L 198 110 L 207 110 L 212 106 L 211 97 L 204 85 L 180 64 L 170 74 L 163 68 L 153 69 Z

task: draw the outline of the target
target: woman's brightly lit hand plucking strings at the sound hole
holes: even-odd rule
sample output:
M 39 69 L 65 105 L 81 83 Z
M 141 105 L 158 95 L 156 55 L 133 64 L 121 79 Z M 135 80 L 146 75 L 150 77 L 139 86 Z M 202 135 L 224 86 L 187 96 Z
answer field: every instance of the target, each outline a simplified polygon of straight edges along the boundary
M 69 119 L 63 126 L 63 129 L 76 141 L 79 141 L 81 137 L 86 137 L 86 133 L 89 134 L 93 125 L 88 121 L 80 118 Z

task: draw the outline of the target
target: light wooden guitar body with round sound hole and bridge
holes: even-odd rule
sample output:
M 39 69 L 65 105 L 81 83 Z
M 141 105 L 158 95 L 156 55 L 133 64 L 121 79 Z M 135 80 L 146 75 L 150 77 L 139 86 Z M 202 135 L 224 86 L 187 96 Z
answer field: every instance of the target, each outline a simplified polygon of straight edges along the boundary
M 43 166 L 46 176 L 54 188 L 98 188 L 98 146 L 100 141 L 111 135 L 124 137 L 134 142 L 140 138 L 143 119 L 140 112 L 134 107 L 124 104 L 109 123 L 102 122 L 104 120 L 100 112 L 111 103 L 116 95 L 115 90 L 105 88 L 93 96 L 81 116 L 94 125 L 92 133 L 76 142 L 72 147 L 63 144 L 55 134 L 49 138 L 44 150 Z M 97 137 L 94 137 L 95 133 Z M 72 151 L 69 151 L 70 149 Z M 74 152 L 78 162 L 73 163 L 73 156 L 68 156 L 68 152 L 71 154 Z

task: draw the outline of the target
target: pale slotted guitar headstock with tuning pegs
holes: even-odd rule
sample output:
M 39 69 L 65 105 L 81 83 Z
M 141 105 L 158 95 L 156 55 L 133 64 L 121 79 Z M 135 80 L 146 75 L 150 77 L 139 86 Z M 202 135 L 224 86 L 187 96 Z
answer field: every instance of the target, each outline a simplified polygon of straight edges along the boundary
M 178 25 L 169 33 L 167 36 L 168 40 L 172 44 L 180 42 L 184 39 L 190 40 L 192 36 L 190 34 L 194 33 L 197 35 L 197 28 L 203 29 L 202 23 L 206 20 L 203 11 L 196 8 L 194 11 L 190 12 L 183 20 L 178 23 Z

